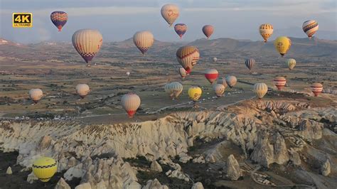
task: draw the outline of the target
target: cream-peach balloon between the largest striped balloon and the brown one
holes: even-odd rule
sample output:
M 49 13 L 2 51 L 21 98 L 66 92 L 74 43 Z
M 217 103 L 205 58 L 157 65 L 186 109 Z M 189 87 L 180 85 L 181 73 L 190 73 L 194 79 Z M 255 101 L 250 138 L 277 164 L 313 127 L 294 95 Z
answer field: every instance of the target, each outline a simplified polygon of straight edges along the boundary
M 134 45 L 144 55 L 147 50 L 154 44 L 154 35 L 149 31 L 139 31 L 134 34 Z

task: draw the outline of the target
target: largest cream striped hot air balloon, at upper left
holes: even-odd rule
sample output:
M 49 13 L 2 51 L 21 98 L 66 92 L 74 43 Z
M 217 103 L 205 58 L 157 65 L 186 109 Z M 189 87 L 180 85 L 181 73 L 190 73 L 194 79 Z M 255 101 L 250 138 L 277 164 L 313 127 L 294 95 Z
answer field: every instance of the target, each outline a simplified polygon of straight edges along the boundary
M 92 58 L 100 51 L 103 43 L 102 34 L 97 30 L 82 29 L 73 34 L 73 46 L 90 67 Z

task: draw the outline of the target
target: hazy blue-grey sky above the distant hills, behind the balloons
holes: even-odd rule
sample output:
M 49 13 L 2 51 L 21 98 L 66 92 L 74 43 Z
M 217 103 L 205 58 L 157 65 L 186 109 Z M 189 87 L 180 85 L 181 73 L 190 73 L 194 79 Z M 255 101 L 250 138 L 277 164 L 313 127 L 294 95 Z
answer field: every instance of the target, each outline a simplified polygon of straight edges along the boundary
M 16 43 L 71 41 L 82 28 L 97 29 L 103 41 L 124 41 L 137 31 L 151 31 L 159 41 L 181 41 L 169 28 L 160 9 L 176 4 L 180 16 L 175 23 L 186 23 L 182 41 L 204 38 L 201 28 L 215 27 L 211 38 L 262 40 L 261 23 L 272 23 L 274 34 L 304 38 L 302 23 L 319 23 L 316 37 L 337 40 L 336 0 L 0 0 L 0 38 Z M 62 32 L 50 21 L 50 13 L 65 11 L 68 23 Z M 12 13 L 33 13 L 33 28 L 13 28 Z

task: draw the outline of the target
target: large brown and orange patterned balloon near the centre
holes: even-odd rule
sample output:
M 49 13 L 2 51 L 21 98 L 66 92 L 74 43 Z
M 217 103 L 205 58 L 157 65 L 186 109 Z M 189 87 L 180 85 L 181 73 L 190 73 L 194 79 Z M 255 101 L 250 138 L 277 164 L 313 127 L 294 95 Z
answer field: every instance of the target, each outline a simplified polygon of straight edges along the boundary
M 195 46 L 183 46 L 177 50 L 176 53 L 178 63 L 183 66 L 186 73 L 189 74 L 194 65 L 200 58 L 199 50 Z

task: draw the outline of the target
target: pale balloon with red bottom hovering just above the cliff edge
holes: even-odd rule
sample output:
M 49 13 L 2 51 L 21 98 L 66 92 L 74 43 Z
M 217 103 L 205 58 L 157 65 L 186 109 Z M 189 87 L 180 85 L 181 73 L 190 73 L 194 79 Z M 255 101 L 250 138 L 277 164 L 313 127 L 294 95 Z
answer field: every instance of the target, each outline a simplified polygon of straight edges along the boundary
M 127 111 L 127 114 L 129 117 L 134 117 L 134 114 L 136 114 L 137 109 L 140 106 L 141 100 L 138 95 L 133 93 L 128 93 L 126 95 L 123 95 L 122 100 L 122 107 Z

